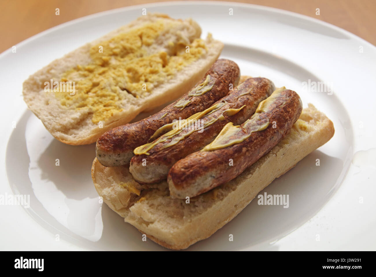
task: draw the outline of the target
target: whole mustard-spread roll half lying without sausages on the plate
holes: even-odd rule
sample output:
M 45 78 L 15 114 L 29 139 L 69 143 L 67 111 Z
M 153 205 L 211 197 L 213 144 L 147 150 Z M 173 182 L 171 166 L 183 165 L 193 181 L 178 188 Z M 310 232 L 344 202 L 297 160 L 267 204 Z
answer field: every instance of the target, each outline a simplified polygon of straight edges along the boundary
M 95 142 L 188 92 L 205 75 L 223 43 L 200 35 L 192 19 L 141 16 L 31 75 L 24 101 L 59 141 Z

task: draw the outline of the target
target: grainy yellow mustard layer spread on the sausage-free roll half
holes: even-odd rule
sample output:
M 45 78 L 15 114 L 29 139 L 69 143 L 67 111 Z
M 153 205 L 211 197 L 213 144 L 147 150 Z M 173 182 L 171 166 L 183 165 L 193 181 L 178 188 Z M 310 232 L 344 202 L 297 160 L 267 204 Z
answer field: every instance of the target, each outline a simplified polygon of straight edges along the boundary
M 189 45 L 189 53 L 182 41 L 171 41 L 176 47 L 174 54 L 153 52 L 152 44 L 168 28 L 170 24 L 159 20 L 93 45 L 90 64 L 77 65 L 63 74 L 61 81 L 75 82 L 75 94 L 55 92 L 61 105 L 88 109 L 92 122 L 97 123 L 120 112 L 122 102 L 149 95 L 205 52 L 202 39 Z

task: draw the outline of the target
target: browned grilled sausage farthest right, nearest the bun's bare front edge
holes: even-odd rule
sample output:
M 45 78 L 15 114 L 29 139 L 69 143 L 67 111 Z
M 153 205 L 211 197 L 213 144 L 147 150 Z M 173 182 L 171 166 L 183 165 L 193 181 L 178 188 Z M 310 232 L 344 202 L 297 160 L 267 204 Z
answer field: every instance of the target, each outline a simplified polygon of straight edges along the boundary
M 171 197 L 194 197 L 234 179 L 284 138 L 301 112 L 296 92 L 276 90 L 249 120 L 228 123 L 211 144 L 173 165 L 167 178 Z

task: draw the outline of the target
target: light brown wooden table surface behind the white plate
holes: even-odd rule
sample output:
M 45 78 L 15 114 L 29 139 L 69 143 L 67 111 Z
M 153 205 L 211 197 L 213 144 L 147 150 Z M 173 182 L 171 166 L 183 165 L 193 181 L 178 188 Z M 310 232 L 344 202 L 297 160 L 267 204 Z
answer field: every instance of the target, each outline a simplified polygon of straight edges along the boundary
M 165 0 L 168 1 L 168 0 Z M 150 0 L 2 0 L 0 53 L 32 35 L 75 18 Z M 238 0 L 318 18 L 376 45 L 376 0 Z M 55 9 L 59 8 L 59 15 Z M 320 15 L 316 15 L 316 9 Z

